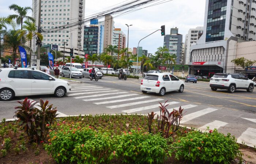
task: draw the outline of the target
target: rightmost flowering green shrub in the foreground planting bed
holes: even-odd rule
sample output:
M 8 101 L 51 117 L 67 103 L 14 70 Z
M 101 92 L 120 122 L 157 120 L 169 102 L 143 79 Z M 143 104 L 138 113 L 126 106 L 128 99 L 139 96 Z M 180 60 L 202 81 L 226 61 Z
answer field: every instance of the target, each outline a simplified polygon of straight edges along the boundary
M 200 163 L 230 163 L 239 153 L 235 137 L 224 136 L 217 129 L 210 133 L 189 132 L 173 144 L 176 158 Z

